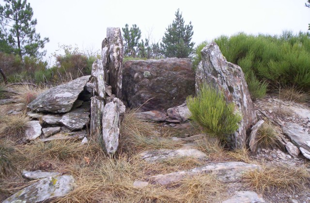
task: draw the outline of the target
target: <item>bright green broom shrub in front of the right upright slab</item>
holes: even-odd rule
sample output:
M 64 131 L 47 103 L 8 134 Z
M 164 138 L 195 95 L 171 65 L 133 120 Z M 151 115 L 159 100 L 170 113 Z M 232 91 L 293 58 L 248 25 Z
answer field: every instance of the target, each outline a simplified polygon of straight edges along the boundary
M 191 119 L 197 122 L 203 130 L 220 138 L 222 141 L 238 129 L 242 117 L 234 113 L 235 105 L 227 103 L 224 95 L 213 87 L 203 85 L 196 97 L 186 98 L 191 112 Z

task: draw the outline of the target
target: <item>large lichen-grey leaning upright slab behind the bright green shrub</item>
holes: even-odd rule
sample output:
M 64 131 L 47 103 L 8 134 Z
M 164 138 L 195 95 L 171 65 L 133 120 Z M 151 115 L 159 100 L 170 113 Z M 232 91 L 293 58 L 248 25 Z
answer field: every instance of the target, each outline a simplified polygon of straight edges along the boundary
M 243 116 L 230 142 L 233 148 L 243 148 L 246 131 L 257 122 L 256 113 L 241 68 L 227 62 L 216 43 L 210 43 L 202 49 L 202 63 L 196 70 L 196 91 L 205 83 L 222 91 L 226 101 L 235 103 L 236 112 Z

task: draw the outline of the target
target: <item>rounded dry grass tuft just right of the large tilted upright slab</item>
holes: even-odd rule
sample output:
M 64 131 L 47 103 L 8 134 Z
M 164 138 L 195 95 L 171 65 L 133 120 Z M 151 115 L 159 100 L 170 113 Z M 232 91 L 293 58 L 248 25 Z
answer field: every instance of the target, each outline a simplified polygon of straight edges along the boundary
M 257 131 L 258 146 L 272 148 L 278 145 L 278 133 L 275 126 L 269 122 L 264 122 Z

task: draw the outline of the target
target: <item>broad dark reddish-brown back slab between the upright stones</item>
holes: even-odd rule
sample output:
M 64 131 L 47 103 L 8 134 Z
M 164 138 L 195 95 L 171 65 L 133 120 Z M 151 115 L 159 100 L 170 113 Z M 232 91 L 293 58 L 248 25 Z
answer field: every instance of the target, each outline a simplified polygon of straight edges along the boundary
M 128 60 L 124 63 L 123 99 L 129 107 L 139 107 L 149 100 L 141 111 L 166 113 L 194 92 L 195 73 L 189 58 Z

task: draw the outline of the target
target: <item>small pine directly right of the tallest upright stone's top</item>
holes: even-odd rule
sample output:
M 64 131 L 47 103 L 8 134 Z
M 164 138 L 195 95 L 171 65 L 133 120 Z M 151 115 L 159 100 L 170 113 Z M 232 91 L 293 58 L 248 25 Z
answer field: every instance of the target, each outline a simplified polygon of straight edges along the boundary
M 123 40 L 124 40 L 124 56 L 136 57 L 138 42 L 141 38 L 141 30 L 136 24 L 132 25 L 129 29 L 128 24 L 123 29 Z

